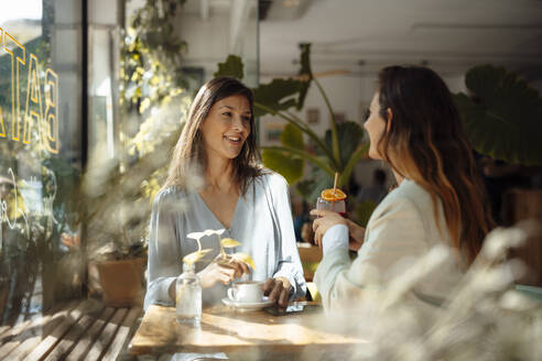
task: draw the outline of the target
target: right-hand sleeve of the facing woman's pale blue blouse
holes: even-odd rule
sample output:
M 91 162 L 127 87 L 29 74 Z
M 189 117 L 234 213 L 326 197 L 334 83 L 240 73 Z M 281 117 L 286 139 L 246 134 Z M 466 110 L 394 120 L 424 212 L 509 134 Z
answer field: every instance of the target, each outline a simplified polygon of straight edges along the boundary
M 306 293 L 303 266 L 301 265 L 300 252 L 295 243 L 295 232 L 293 228 L 292 210 L 288 192 L 288 183 L 282 176 L 273 176 L 271 180 L 271 192 L 274 209 L 281 232 L 279 264 L 273 277 L 285 277 L 293 287 L 291 299 L 303 297 Z

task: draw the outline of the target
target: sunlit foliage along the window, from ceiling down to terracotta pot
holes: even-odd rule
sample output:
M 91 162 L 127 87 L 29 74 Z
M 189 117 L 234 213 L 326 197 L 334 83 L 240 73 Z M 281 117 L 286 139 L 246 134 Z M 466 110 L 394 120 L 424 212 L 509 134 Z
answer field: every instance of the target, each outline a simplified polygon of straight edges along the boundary
M 121 102 L 124 116 L 141 119 L 122 151 L 109 158 L 95 147 L 79 189 L 83 222 L 94 259 L 139 256 L 147 245 L 152 199 L 160 190 L 189 107 L 184 72 L 188 45 L 175 25 L 186 0 L 145 0 L 129 20 L 121 48 Z M 152 110 L 152 111 L 151 111 Z

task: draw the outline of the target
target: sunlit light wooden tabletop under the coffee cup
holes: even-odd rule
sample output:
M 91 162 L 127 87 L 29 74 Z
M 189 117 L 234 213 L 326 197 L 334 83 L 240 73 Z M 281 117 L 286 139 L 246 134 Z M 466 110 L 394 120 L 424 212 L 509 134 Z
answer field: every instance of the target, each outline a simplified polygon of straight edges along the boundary
M 177 324 L 173 307 L 153 305 L 132 338 L 129 353 L 226 352 L 232 360 L 271 360 L 317 352 L 317 360 L 338 360 L 367 342 L 337 331 L 322 306 L 297 304 L 304 305 L 303 311 L 284 316 L 216 306 L 204 310 L 199 328 Z

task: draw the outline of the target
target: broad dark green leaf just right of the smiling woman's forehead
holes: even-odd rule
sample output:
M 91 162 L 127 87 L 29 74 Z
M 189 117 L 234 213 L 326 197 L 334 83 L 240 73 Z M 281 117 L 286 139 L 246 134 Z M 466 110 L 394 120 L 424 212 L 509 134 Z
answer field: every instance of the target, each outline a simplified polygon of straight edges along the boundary
M 273 79 L 270 84 L 262 84 L 254 91 L 254 116 L 262 117 L 268 110 L 258 107 L 262 103 L 275 112 L 286 110 L 297 105 L 295 95 L 300 91 L 303 83 L 295 79 Z

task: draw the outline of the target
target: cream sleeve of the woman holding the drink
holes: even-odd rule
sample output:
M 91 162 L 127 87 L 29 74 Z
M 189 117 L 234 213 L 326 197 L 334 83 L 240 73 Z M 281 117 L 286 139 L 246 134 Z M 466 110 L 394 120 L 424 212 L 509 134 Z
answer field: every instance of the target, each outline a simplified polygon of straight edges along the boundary
M 381 206 L 353 263 L 348 250 L 335 248 L 325 253 L 316 270 L 315 283 L 326 310 L 346 309 L 365 286 L 386 285 L 427 251 L 423 218 L 412 201 L 395 197 Z

